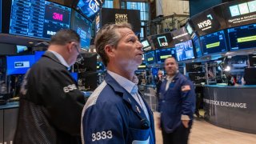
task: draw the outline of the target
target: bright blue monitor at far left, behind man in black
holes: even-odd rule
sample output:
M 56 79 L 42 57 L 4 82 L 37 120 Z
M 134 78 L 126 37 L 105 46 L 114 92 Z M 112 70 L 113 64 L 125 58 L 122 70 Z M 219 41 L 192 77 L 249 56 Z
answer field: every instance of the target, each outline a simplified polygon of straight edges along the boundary
M 26 74 L 34 64 L 34 55 L 6 56 L 7 75 Z

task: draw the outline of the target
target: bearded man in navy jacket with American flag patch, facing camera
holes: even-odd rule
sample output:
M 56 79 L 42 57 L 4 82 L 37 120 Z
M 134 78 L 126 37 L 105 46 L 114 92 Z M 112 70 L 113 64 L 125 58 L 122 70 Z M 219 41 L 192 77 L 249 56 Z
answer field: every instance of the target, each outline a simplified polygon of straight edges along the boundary
M 167 78 L 160 88 L 158 126 L 162 129 L 163 144 L 185 144 L 193 121 L 194 86 L 178 72 L 175 58 L 166 58 L 165 69 Z

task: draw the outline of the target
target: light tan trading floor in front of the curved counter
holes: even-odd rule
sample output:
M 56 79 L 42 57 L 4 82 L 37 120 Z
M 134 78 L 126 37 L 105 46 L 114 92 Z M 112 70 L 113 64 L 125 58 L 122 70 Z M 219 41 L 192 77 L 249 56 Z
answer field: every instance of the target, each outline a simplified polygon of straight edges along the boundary
M 154 116 L 156 118 L 156 116 Z M 155 120 L 156 121 L 156 120 Z M 155 122 L 156 123 L 156 122 Z M 253 124 L 253 123 L 252 123 Z M 161 130 L 155 125 L 156 143 L 162 144 Z M 242 133 L 214 126 L 202 118 L 195 118 L 190 133 L 190 144 L 254 144 L 256 134 Z

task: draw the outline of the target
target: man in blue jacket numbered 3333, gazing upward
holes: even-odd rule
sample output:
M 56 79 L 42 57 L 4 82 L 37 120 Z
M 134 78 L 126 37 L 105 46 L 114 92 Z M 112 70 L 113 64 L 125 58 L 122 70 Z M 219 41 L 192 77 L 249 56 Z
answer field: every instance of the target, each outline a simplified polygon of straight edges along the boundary
M 143 54 L 138 37 L 128 23 L 110 24 L 98 31 L 95 46 L 107 74 L 82 110 L 82 142 L 154 144 L 153 114 L 134 76 Z

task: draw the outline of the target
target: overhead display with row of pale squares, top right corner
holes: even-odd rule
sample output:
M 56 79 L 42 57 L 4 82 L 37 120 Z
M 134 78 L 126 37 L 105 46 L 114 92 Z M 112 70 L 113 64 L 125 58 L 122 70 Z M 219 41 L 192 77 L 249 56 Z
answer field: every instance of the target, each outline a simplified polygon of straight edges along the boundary
M 256 0 L 228 2 L 222 9 L 228 27 L 255 23 Z

